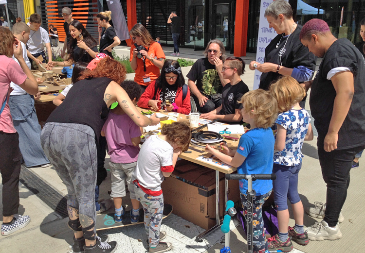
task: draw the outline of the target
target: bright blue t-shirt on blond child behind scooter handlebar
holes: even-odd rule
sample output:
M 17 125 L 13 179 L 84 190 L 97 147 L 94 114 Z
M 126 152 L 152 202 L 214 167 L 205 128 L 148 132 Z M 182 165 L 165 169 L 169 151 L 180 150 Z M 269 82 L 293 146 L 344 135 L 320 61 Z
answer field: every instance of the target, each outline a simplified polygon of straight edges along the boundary
M 273 173 L 274 134 L 271 128 L 254 128 L 239 138 L 237 152 L 246 157 L 237 168 L 239 174 L 271 174 Z M 272 180 L 256 180 L 252 182 L 256 195 L 264 195 L 273 188 Z M 239 180 L 239 190 L 247 194 L 247 180 Z

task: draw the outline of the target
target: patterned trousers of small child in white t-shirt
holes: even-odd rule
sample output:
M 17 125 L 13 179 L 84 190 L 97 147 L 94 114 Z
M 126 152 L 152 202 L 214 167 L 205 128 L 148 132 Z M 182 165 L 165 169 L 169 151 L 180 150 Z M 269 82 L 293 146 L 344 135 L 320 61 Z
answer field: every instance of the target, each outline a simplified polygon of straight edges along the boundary
M 160 228 L 164 212 L 164 195 L 151 196 L 146 194 L 134 183 L 134 193 L 145 211 L 145 229 L 150 247 L 156 247 L 160 242 Z

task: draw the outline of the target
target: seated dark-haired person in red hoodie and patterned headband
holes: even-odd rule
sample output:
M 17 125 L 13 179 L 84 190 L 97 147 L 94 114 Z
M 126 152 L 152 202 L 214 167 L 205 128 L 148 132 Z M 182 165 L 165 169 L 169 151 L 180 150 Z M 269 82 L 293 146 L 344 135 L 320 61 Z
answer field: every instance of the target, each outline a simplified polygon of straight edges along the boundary
M 155 111 L 166 109 L 169 112 L 190 113 L 190 90 L 177 61 L 168 59 L 164 62 L 161 75 L 148 85 L 138 101 L 138 106 Z

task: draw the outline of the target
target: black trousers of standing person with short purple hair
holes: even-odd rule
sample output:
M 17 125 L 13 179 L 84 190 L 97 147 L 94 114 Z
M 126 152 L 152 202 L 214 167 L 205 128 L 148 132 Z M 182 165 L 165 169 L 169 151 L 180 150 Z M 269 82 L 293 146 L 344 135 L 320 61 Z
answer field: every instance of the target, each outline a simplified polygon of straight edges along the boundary
M 327 206 L 324 220 L 330 227 L 336 226 L 341 208 L 346 197 L 347 188 L 350 184 L 350 169 L 355 154 L 364 150 L 364 146 L 345 150 L 326 152 L 323 141 L 318 136 L 318 157 L 322 169 L 322 176 L 327 184 Z

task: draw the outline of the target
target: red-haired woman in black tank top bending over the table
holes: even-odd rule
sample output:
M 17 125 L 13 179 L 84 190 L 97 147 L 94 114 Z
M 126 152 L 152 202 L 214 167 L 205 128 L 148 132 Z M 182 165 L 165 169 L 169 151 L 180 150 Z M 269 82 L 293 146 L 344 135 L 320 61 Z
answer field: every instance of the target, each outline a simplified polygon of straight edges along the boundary
M 85 253 L 110 253 L 117 246 L 116 242 L 106 245 L 102 242 L 105 238 L 96 240 L 93 196 L 97 169 L 96 143 L 111 104 L 118 101 L 138 126 L 159 122 L 155 115 L 147 118 L 137 111 L 120 86 L 125 78 L 126 69 L 119 62 L 109 57 L 101 60 L 73 84 L 42 130 L 42 147 L 68 189 L 69 226 L 74 231 L 73 248 L 82 249 L 85 245 Z M 77 213 L 79 216 L 74 215 Z

